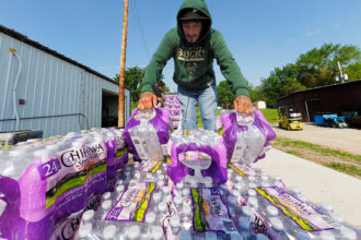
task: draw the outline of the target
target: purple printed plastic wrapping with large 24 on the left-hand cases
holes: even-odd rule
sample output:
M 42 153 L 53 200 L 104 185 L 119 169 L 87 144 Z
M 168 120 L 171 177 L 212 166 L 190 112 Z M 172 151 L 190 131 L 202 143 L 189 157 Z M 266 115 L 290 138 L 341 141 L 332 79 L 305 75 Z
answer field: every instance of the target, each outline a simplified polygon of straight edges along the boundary
M 40 157 L 18 181 L 0 176 L 0 199 L 7 203 L 0 237 L 49 239 L 58 223 L 84 209 L 91 195 L 107 191 L 112 145 L 97 140 Z

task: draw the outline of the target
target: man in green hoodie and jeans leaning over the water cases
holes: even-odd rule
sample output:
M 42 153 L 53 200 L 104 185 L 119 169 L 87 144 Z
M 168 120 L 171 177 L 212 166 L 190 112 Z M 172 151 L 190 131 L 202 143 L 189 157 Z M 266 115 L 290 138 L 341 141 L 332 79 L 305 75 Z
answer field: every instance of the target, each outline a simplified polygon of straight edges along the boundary
M 233 101 L 234 111 L 253 112 L 247 85 L 241 70 L 222 35 L 211 28 L 211 24 L 212 20 L 203 0 L 183 2 L 177 14 L 177 27 L 163 37 L 145 69 L 138 104 L 140 110 L 156 107 L 156 96 L 152 86 L 160 77 L 166 61 L 173 58 L 175 69 L 173 80 L 178 85 L 183 129 L 197 129 L 197 101 L 203 128 L 212 131 L 216 129 L 218 96 L 213 59 L 217 60 L 236 96 Z

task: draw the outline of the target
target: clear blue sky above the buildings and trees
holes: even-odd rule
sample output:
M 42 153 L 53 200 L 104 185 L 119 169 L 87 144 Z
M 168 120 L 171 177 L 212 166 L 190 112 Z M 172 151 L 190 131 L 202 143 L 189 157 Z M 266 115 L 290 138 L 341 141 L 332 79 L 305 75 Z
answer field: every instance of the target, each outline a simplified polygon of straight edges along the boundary
M 182 2 L 129 0 L 127 68 L 148 64 L 164 34 L 175 26 Z M 253 86 L 276 67 L 294 62 L 325 43 L 361 48 L 360 0 L 207 3 L 212 26 L 223 34 Z M 123 0 L 0 0 L 0 24 L 113 77 L 119 72 L 123 4 Z M 218 83 L 224 80 L 216 63 L 214 70 Z M 172 59 L 163 74 L 175 91 Z

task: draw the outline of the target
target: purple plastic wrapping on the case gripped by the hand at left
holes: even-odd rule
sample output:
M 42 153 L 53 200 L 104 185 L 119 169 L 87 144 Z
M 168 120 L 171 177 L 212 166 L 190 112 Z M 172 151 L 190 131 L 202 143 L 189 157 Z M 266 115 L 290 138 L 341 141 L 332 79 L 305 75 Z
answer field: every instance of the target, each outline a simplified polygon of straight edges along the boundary
M 170 122 L 170 111 L 166 109 L 155 109 L 155 108 L 154 108 L 154 110 L 155 110 L 154 118 L 150 119 L 148 122 L 154 127 L 161 145 L 164 145 L 170 140 L 170 123 L 168 123 Z M 124 139 L 128 145 L 128 152 L 133 155 L 135 160 L 139 161 L 141 159 L 137 153 L 136 146 L 132 143 L 130 134 L 129 134 L 130 129 L 140 124 L 140 120 L 138 118 L 136 118 L 138 111 L 139 111 L 138 108 L 136 108 L 132 111 L 129 122 L 127 123 L 127 125 L 124 130 Z M 166 156 L 164 156 L 164 159 L 166 159 Z

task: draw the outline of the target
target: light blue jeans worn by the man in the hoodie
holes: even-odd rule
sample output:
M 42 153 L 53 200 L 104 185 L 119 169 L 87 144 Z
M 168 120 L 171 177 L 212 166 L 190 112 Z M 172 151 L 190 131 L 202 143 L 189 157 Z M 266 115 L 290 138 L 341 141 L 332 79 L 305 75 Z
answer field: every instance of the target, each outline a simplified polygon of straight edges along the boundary
M 182 106 L 182 128 L 196 130 L 197 101 L 199 105 L 201 122 L 205 130 L 216 130 L 216 111 L 218 106 L 217 86 L 212 85 L 202 91 L 186 91 L 178 86 L 178 99 Z

